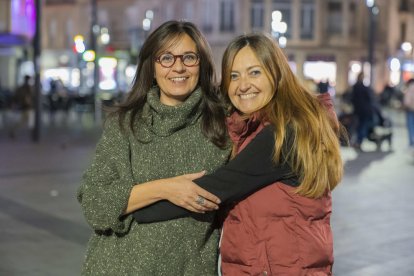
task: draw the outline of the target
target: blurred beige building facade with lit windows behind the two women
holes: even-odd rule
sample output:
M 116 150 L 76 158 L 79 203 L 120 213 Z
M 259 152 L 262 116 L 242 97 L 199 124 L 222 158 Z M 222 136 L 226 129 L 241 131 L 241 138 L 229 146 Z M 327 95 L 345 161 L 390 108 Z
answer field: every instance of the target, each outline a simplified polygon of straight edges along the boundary
M 127 89 L 133 72 L 129 65 L 136 63 L 140 46 L 151 30 L 169 19 L 189 20 L 200 27 L 212 47 L 218 71 L 224 49 L 235 35 L 266 31 L 279 40 L 301 79 L 328 80 L 337 93 L 346 91 L 361 70 L 378 92 L 386 84 L 399 85 L 414 74 L 414 0 L 42 2 L 43 72 L 49 72 L 48 77 L 64 74 L 73 85 L 93 81 L 88 77 L 90 66 L 74 51 L 75 36 L 83 36 L 86 49 L 97 37 L 94 48 L 98 58 L 116 60 L 112 75 L 118 85 L 122 83 L 120 89 Z M 102 40 L 103 30 L 109 42 Z M 61 68 L 67 72 L 59 73 Z

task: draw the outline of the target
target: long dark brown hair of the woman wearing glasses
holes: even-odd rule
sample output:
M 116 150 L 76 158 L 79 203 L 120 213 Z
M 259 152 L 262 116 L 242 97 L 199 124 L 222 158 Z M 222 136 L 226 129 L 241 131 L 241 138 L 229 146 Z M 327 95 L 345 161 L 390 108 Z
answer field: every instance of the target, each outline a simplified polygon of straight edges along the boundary
M 225 113 L 216 87 L 216 73 L 211 49 L 205 37 L 191 22 L 167 21 L 149 35 L 138 56 L 138 68 L 129 96 L 124 103 L 117 106 L 115 114 L 119 115 L 122 128 L 125 117 L 129 113 L 130 129 L 134 133 L 139 131 L 134 129 L 134 123 L 139 118 L 148 91 L 156 85 L 155 58 L 159 53 L 177 43 L 184 34 L 194 41 L 200 57 L 198 86 L 201 87 L 203 93 L 200 107 L 202 109 L 202 132 L 215 145 L 223 148 L 227 145 Z

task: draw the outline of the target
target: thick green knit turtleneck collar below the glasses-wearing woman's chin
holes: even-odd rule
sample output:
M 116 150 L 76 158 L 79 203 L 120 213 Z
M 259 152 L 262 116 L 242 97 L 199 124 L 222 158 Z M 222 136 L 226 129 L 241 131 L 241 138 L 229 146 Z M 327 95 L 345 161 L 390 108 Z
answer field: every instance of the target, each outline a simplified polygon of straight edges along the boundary
M 150 142 L 154 136 L 167 137 L 194 124 L 201 115 L 201 99 L 201 88 L 197 88 L 183 103 L 169 106 L 161 103 L 159 88 L 152 88 L 137 129 L 138 140 Z

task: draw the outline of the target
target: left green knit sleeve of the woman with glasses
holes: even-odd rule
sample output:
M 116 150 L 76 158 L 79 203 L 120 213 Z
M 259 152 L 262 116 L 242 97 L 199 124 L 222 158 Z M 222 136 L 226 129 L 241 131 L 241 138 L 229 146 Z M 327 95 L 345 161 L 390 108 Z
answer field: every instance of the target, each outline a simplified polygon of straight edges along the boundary
M 128 231 L 132 216 L 123 216 L 134 186 L 128 137 L 118 119 L 105 124 L 95 157 L 85 171 L 77 199 L 86 221 L 95 231 Z

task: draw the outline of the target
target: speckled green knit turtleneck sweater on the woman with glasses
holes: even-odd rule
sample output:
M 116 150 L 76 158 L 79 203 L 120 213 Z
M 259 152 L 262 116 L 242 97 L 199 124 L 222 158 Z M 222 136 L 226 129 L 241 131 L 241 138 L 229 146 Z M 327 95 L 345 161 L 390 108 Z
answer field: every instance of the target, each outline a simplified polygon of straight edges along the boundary
M 184 103 L 166 106 L 153 89 L 135 136 L 128 119 L 124 132 L 117 118 L 106 122 L 77 195 L 93 229 L 82 275 L 217 275 L 214 213 L 149 224 L 122 215 L 134 185 L 225 164 L 230 150 L 201 133 L 200 101 L 197 89 Z

